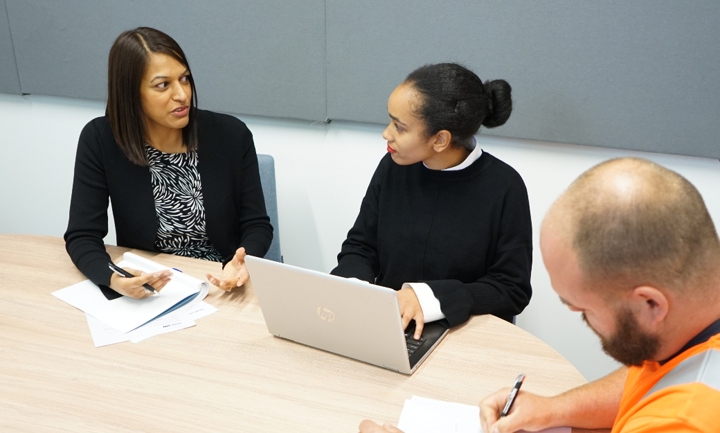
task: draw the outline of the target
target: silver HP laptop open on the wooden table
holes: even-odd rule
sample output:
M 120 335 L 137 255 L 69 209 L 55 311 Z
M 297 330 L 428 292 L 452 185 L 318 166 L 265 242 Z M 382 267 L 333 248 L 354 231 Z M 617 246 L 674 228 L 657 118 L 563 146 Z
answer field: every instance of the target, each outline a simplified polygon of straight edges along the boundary
M 419 340 L 405 331 L 397 292 L 266 259 L 245 262 L 270 334 L 407 375 L 448 330 L 426 323 Z

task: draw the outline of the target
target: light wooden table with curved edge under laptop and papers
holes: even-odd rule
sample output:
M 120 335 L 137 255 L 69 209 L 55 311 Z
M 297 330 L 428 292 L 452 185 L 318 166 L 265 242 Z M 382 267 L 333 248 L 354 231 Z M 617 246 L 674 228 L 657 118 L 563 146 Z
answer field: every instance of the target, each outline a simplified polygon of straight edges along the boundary
M 108 246 L 116 262 L 127 249 Z M 133 251 L 204 280 L 220 265 Z M 271 336 L 251 284 L 197 326 L 95 348 L 84 313 L 50 293 L 84 280 L 60 238 L 0 235 L 0 431 L 357 432 L 397 423 L 413 395 L 477 404 L 528 376 L 552 396 L 585 383 L 560 354 L 494 316 L 450 331 L 412 376 Z

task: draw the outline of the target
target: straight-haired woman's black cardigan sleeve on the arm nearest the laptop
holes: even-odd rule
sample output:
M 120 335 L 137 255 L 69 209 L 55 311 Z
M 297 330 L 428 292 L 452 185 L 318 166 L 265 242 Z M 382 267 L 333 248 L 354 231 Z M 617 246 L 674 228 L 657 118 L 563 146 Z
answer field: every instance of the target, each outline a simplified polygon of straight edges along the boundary
M 241 187 L 236 193 L 238 225 L 241 234 L 240 244 L 236 248 L 244 247 L 246 254 L 262 257 L 270 249 L 273 228 L 265 209 L 265 197 L 260 182 L 258 155 L 255 150 L 253 134 L 247 128 L 244 128 L 242 140 L 243 168 L 242 178 L 239 182 Z M 232 255 L 225 258 L 223 266 L 230 262 L 233 256 L 234 251 Z

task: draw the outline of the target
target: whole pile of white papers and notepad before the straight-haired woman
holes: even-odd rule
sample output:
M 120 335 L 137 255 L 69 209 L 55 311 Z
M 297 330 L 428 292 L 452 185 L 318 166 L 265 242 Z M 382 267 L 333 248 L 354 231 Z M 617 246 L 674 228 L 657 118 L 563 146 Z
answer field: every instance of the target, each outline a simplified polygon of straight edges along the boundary
M 132 253 L 125 253 L 118 266 L 148 273 L 170 269 Z M 95 347 L 137 343 L 153 335 L 194 326 L 195 319 L 217 311 L 203 301 L 210 290 L 207 282 L 170 270 L 173 275 L 163 290 L 143 299 L 122 296 L 108 300 L 89 280 L 58 290 L 53 296 L 86 313 Z

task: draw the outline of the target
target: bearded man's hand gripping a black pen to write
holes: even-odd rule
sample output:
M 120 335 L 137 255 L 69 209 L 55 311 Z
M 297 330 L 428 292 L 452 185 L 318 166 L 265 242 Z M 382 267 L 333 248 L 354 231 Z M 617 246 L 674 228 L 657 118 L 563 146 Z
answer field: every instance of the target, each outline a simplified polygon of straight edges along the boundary
M 537 432 L 554 427 L 549 425 L 549 420 L 545 416 L 548 413 L 549 398 L 524 391 L 518 392 L 510 414 L 500 418 L 509 394 L 510 388 L 503 388 L 480 403 L 480 422 L 483 432 L 510 433 L 518 430 Z

